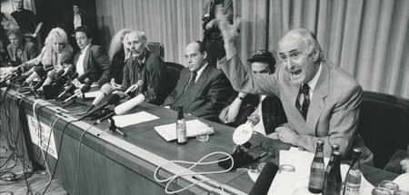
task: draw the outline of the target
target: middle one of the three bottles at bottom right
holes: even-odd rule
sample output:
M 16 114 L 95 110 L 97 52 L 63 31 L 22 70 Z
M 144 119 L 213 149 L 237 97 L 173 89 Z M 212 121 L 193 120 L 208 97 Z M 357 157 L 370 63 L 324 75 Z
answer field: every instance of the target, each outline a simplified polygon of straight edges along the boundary
M 343 179 L 341 178 L 341 152 L 334 151 L 333 167 L 329 171 L 326 180 L 324 180 L 323 195 L 339 195 L 341 194 L 341 185 Z

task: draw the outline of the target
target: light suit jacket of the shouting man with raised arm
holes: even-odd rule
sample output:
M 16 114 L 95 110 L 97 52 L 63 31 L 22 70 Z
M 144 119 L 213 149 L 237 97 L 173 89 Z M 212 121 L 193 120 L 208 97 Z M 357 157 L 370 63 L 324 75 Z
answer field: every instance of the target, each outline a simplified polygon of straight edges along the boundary
M 362 138 L 355 136 L 362 87 L 341 68 L 322 62 L 322 72 L 315 85 L 306 120 L 295 107 L 299 85 L 290 83 L 290 73 L 284 70 L 284 66 L 278 65 L 274 74 L 254 76 L 247 68 L 237 56 L 222 64 L 235 90 L 280 97 L 289 127 L 299 135 L 297 146 L 314 152 L 316 141 L 323 140 L 325 156 L 330 156 L 331 144 L 334 143 L 340 145 L 339 151 L 344 157 L 347 151 L 352 151 L 349 150 L 352 145 L 363 148 L 363 158 L 371 155 Z

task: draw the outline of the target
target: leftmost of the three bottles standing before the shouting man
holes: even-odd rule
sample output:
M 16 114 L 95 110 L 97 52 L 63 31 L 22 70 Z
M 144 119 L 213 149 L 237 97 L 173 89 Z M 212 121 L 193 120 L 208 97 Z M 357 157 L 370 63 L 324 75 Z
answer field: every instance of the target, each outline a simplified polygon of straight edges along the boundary
M 308 182 L 308 190 L 311 193 L 321 193 L 324 183 L 324 141 L 316 142 L 316 150 L 313 163 L 310 169 L 310 181 Z

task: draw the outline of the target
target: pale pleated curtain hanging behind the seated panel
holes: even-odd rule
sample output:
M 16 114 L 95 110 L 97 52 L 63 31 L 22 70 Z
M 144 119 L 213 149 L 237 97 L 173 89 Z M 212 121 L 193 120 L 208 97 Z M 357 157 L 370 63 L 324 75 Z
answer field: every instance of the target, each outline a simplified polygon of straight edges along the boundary
M 205 0 L 96 0 L 101 43 L 120 29 L 142 30 L 165 45 L 165 61 L 184 63 L 185 45 L 203 38 Z M 409 98 L 409 0 L 234 0 L 242 17 L 242 60 L 276 54 L 293 28 L 312 30 L 325 59 L 351 73 L 365 91 Z

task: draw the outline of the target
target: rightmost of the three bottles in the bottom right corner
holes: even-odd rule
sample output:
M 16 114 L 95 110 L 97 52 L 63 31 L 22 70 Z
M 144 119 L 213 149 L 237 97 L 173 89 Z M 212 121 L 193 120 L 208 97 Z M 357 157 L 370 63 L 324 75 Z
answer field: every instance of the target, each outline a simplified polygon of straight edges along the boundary
M 353 160 L 351 161 L 351 165 L 345 176 L 344 194 L 359 194 L 359 189 L 361 188 L 360 155 L 361 149 L 354 148 Z

